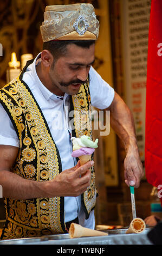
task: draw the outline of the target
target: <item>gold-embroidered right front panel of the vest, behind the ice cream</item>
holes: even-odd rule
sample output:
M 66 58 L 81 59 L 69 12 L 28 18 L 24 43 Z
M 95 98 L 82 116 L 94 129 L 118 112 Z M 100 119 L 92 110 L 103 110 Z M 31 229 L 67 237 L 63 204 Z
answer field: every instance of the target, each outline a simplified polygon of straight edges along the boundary
M 74 125 L 75 127 L 82 127 L 80 129 L 75 129 L 76 137 L 81 137 L 82 135 L 87 135 L 92 137 L 92 129 L 90 127 L 90 94 L 89 94 L 89 83 L 85 83 L 81 86 L 78 94 L 72 96 L 73 106 L 74 106 Z M 75 111 L 79 112 L 80 115 L 75 115 Z M 95 187 L 95 172 L 94 168 L 91 168 L 91 181 L 90 186 L 83 193 L 83 201 L 87 210 L 88 215 L 90 211 L 94 208 L 96 203 L 96 187 Z

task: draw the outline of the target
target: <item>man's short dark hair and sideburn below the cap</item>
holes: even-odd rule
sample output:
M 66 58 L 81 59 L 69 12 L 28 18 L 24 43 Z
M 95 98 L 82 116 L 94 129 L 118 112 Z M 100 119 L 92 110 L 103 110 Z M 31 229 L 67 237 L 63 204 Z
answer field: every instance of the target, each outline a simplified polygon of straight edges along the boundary
M 75 44 L 79 47 L 89 48 L 92 44 L 95 44 L 95 40 L 54 40 L 43 43 L 43 50 L 48 50 L 54 57 L 55 61 L 66 54 L 67 45 Z

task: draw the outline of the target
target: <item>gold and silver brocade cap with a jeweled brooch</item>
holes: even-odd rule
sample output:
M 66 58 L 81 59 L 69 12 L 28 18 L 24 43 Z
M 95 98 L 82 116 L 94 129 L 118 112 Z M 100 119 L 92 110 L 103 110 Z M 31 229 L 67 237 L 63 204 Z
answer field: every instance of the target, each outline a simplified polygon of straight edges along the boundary
M 96 40 L 99 21 L 92 4 L 49 5 L 40 27 L 43 42 L 51 40 Z

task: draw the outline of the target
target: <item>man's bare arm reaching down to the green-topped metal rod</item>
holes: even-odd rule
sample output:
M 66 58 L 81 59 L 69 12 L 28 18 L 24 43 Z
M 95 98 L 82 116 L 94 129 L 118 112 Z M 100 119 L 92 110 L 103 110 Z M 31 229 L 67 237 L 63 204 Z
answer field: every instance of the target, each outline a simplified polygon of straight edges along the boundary
M 124 143 L 125 182 L 129 186 L 139 187 L 144 174 L 139 156 L 133 115 L 121 97 L 115 93 L 111 107 L 111 126 Z

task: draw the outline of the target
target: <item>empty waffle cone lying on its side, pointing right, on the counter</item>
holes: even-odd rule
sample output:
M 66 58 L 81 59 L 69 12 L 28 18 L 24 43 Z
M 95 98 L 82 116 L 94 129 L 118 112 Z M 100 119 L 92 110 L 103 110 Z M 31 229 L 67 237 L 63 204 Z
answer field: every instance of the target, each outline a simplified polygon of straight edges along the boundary
M 102 236 L 108 235 L 108 233 L 93 230 L 90 228 L 83 228 L 81 225 L 72 223 L 69 228 L 70 238 L 82 237 L 82 236 Z

